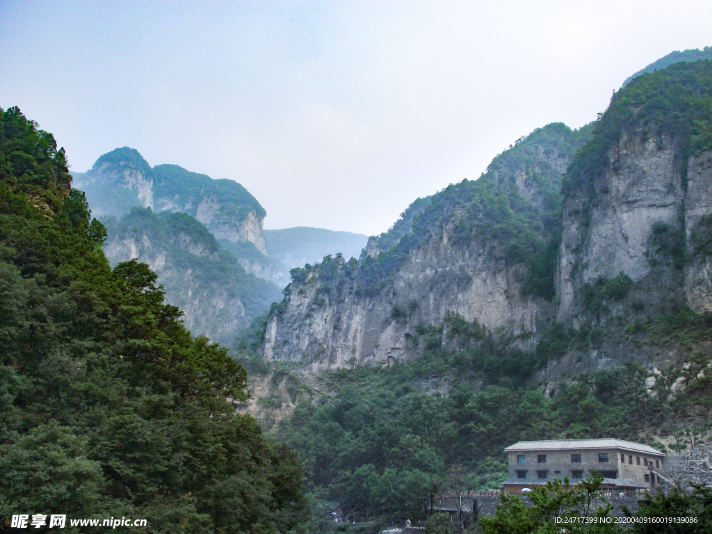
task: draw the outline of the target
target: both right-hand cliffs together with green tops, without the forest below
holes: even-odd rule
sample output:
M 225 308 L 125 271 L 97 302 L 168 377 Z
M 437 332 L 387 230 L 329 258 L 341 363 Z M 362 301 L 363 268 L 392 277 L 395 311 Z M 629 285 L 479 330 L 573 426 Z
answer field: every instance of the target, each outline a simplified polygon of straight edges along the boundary
M 415 202 L 360 261 L 295 273 L 264 355 L 386 364 L 488 333 L 536 354 L 551 385 L 712 350 L 711 95 L 712 62 L 679 63 L 582 132 L 519 140 L 476 182 Z

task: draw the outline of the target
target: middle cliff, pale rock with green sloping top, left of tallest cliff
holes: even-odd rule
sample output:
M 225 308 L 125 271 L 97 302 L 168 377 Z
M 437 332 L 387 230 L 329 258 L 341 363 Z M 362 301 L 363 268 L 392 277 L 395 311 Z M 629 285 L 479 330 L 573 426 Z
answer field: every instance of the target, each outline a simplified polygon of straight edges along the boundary
M 540 271 L 554 266 L 562 172 L 586 137 L 560 124 L 537 130 L 477 181 L 419 200 L 396 236 L 370 242 L 377 253 L 295 273 L 267 325 L 265 356 L 315 368 L 408 359 L 452 317 L 531 345 L 553 316 Z

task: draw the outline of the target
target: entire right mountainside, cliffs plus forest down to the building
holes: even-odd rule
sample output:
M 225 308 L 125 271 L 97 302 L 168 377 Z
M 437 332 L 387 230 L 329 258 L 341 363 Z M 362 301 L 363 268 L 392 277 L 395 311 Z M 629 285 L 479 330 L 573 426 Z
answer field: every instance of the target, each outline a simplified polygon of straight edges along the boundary
M 404 520 L 498 487 L 518 440 L 709 439 L 711 75 L 641 75 L 590 127 L 416 201 L 361 261 L 293 270 L 248 363 L 318 496 Z

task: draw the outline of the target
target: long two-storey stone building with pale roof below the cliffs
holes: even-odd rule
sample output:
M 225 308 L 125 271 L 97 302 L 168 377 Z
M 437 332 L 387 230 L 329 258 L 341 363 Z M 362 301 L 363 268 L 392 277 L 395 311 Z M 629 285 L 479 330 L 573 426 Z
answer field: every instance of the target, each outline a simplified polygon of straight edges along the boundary
M 518 493 L 557 478 L 575 485 L 594 471 L 602 488 L 651 490 L 661 483 L 665 455 L 650 446 L 622 439 L 556 439 L 519 441 L 504 449 L 509 476 L 503 491 Z

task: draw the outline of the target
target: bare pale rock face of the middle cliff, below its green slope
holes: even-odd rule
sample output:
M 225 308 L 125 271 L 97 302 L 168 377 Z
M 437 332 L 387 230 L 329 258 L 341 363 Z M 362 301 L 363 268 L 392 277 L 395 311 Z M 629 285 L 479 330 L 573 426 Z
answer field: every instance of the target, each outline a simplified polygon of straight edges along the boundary
M 320 273 L 293 284 L 281 315 L 267 325 L 264 355 L 270 360 L 308 362 L 314 370 L 355 364 L 386 365 L 422 354 L 423 325 L 443 325 L 446 314 L 477 320 L 533 339 L 552 308 L 520 294 L 517 269 L 488 258 L 486 248 L 449 242 L 444 227 L 409 253 L 392 281 L 375 295 L 360 295 L 348 279 L 350 266 L 337 258 L 344 282 L 325 291 Z

